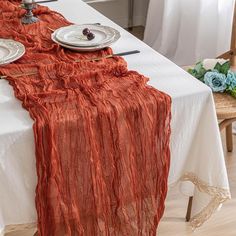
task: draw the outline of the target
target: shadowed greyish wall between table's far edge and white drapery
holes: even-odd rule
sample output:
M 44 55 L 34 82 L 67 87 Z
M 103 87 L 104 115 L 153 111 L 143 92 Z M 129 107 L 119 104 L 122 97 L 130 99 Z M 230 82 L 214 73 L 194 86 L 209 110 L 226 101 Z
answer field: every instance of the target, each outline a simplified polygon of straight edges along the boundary
M 128 26 L 129 0 L 84 0 L 122 27 Z M 96 2 L 101 1 L 101 2 Z M 149 0 L 134 0 L 134 26 L 145 26 Z

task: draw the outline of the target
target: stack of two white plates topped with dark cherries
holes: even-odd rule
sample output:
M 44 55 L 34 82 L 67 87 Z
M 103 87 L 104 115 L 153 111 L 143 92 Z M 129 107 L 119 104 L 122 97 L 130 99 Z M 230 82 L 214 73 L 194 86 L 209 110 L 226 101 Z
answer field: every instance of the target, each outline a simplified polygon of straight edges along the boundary
M 83 35 L 85 28 L 95 35 L 94 39 L 88 40 Z M 103 25 L 70 25 L 55 30 L 51 38 L 62 47 L 75 51 L 91 52 L 109 47 L 120 38 L 120 33 L 116 29 Z

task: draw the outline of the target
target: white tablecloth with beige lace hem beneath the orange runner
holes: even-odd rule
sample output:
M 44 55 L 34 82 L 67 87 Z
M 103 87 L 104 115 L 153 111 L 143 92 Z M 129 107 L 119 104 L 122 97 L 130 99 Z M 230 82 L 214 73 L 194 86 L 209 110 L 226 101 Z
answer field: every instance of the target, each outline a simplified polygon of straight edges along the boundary
M 150 85 L 173 99 L 169 185 L 177 184 L 181 179 L 194 182 L 201 192 L 194 189 L 193 214 L 200 212 L 210 216 L 211 210 L 229 197 L 229 185 L 209 88 L 82 1 L 59 1 L 48 6 L 71 22 L 100 22 L 118 29 L 122 37 L 112 46 L 114 52 L 141 51 L 126 57 L 129 69 L 149 77 Z M 14 97 L 11 86 L 1 80 L 0 230 L 8 226 L 6 231 L 10 231 L 11 225 L 25 227 L 23 224 L 27 226 L 37 221 L 32 124 L 28 112 Z M 189 195 L 193 194 L 192 188 L 187 190 Z M 192 221 L 194 225 L 206 220 L 201 214 L 197 215 L 198 221 Z

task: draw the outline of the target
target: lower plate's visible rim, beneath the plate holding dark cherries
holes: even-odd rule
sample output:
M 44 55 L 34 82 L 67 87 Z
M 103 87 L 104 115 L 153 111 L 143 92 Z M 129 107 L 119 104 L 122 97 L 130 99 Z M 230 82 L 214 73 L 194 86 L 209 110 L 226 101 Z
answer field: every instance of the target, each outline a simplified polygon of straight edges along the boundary
M 108 26 L 103 26 L 103 27 L 108 27 Z M 106 47 L 109 47 L 111 46 L 113 43 L 115 43 L 119 38 L 120 38 L 120 33 L 119 31 L 117 31 L 116 29 L 113 29 L 111 27 L 108 27 L 110 29 L 112 29 L 114 31 L 114 38 L 111 40 L 111 41 L 108 41 L 107 43 L 104 43 L 104 44 L 100 44 L 100 45 L 97 45 L 97 46 L 91 46 L 91 47 L 77 47 L 77 46 L 72 46 L 72 45 L 69 45 L 69 44 L 65 44 L 65 43 L 62 43 L 60 42 L 57 37 L 56 37 L 56 31 L 51 35 L 51 39 L 61 45 L 62 47 L 65 47 L 65 48 L 68 48 L 68 49 L 71 49 L 73 51 L 78 51 L 78 52 L 93 52 L 93 51 L 97 51 L 97 50 L 101 50 L 103 48 L 106 48 Z

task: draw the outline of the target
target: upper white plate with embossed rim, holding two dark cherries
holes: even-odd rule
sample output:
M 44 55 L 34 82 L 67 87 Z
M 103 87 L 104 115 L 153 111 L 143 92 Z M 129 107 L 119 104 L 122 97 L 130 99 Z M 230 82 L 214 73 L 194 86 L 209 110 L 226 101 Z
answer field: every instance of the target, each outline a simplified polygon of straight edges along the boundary
M 83 35 L 83 30 L 88 28 L 94 35 L 95 38 L 88 40 Z M 70 25 L 59 28 L 55 31 L 57 41 L 62 43 L 77 46 L 77 47 L 95 47 L 101 44 L 108 43 L 115 37 L 113 28 L 103 25 Z

